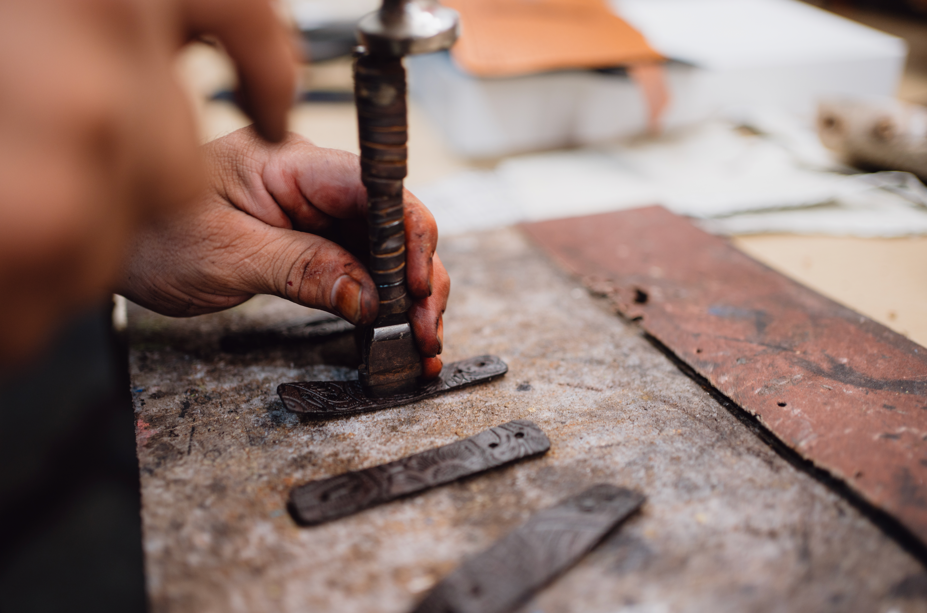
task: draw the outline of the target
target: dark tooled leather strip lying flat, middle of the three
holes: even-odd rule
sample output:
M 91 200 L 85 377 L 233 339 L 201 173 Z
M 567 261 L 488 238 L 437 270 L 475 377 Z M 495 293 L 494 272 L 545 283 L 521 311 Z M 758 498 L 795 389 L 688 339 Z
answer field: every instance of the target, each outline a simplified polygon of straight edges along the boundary
M 515 419 L 395 462 L 300 485 L 290 492 L 289 508 L 299 523 L 319 524 L 550 448 L 537 425 Z

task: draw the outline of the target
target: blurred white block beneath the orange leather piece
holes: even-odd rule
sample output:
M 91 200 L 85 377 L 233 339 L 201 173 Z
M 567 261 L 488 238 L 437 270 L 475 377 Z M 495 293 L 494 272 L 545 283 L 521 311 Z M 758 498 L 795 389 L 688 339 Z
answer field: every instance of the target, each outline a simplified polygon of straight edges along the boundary
M 667 129 L 744 106 L 810 118 L 820 97 L 893 95 L 899 38 L 796 0 L 615 0 L 616 13 L 673 62 Z M 478 79 L 448 54 L 407 59 L 410 88 L 451 148 L 468 157 L 594 144 L 643 131 L 627 77 L 567 70 Z

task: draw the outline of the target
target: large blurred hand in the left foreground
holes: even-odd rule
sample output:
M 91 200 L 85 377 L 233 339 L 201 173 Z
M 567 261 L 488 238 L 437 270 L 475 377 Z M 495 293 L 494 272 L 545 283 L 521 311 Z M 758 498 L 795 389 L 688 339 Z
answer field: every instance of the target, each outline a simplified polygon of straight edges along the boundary
M 174 66 L 199 34 L 282 138 L 295 53 L 268 0 L 0 2 L 0 366 L 105 298 L 135 228 L 202 190 Z

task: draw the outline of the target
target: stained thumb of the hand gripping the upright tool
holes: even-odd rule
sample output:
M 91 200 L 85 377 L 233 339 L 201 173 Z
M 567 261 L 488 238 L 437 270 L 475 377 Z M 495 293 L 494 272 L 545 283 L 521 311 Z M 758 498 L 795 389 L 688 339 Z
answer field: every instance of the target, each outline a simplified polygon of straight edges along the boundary
M 319 308 L 355 325 L 376 319 L 379 298 L 362 263 L 343 247 L 320 236 L 273 228 L 237 268 L 240 289 L 273 294 L 304 307 Z

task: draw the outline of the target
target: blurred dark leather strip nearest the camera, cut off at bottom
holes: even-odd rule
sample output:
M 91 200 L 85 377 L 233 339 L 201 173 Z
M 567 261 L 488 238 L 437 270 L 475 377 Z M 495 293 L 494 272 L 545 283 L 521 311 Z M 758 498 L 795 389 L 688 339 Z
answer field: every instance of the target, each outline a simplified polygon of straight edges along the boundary
M 535 514 L 451 572 L 413 613 L 505 613 L 573 566 L 644 496 L 596 485 Z

